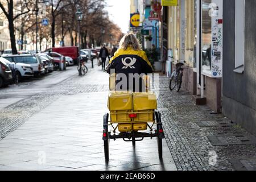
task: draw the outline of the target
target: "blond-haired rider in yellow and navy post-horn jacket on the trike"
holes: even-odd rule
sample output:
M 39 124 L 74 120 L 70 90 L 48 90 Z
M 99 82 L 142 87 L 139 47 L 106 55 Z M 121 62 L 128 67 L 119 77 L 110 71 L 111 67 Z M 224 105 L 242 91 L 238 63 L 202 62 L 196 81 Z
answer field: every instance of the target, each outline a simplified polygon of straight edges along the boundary
M 134 34 L 123 36 L 106 71 L 115 75 L 115 90 L 146 92 L 142 78 L 152 73 L 152 65 Z

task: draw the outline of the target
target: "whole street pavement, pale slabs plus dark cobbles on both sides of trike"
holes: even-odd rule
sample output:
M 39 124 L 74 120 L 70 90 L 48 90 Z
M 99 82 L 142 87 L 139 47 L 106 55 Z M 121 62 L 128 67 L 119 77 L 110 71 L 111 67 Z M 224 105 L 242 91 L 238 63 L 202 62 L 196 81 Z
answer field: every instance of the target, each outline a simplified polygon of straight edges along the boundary
M 232 161 L 255 159 L 255 144 L 229 143 L 248 135 L 241 126 L 211 114 L 207 106 L 196 106 L 183 89 L 170 92 L 168 78 L 160 76 L 163 161 L 154 139 L 135 149 L 111 140 L 106 164 L 101 132 L 108 75 L 97 67 L 85 77 L 76 72 L 73 67 L 49 76 L 50 82 L 42 78 L 0 90 L 0 170 L 234 170 Z M 216 135 L 236 137 L 216 146 L 209 140 Z

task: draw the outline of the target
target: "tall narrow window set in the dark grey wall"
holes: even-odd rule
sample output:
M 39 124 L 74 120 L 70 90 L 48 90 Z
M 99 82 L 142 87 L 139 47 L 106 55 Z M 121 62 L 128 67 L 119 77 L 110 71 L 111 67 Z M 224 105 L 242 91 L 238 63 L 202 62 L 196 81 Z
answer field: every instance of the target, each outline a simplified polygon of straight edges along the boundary
M 245 0 L 236 0 L 236 64 L 241 70 L 245 64 Z M 236 70 L 235 70 L 236 71 Z

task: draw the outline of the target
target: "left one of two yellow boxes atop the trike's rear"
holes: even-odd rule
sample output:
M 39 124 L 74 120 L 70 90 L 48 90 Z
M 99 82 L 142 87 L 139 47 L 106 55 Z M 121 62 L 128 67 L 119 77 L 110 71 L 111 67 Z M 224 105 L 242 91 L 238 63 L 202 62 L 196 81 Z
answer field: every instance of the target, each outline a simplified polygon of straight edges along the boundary
M 108 108 L 110 111 L 132 110 L 133 93 L 112 91 L 109 93 Z

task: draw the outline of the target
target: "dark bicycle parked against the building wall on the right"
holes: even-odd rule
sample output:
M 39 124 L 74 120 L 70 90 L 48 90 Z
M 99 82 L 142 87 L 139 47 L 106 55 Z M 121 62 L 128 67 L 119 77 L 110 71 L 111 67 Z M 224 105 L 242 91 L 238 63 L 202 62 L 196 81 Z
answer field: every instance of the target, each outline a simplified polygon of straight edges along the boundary
M 169 56 L 170 57 L 170 56 Z M 171 57 L 174 59 L 174 57 Z M 176 69 L 171 74 L 170 80 L 170 90 L 174 90 L 176 87 L 176 91 L 179 92 L 182 84 L 182 77 L 183 77 L 183 65 L 186 63 L 184 60 L 180 60 L 176 64 Z

